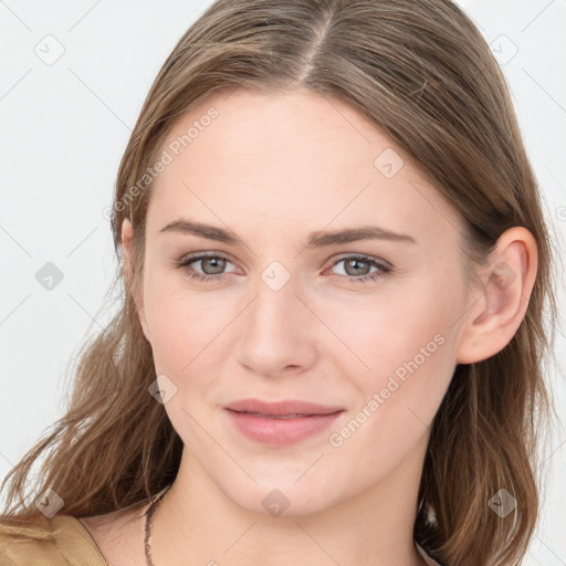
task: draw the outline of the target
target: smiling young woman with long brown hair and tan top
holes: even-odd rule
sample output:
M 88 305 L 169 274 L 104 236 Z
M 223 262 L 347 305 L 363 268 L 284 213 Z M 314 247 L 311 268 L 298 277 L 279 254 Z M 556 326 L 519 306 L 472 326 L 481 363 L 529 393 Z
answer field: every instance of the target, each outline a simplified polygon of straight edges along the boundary
M 123 308 L 4 481 L 2 566 L 521 562 L 553 254 L 457 6 L 216 2 L 112 229 Z

